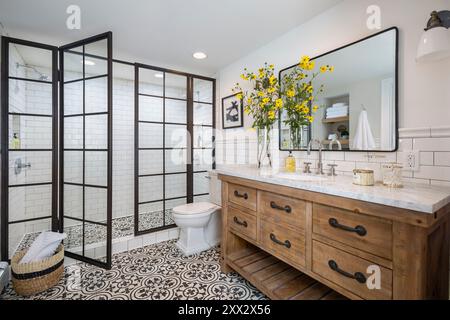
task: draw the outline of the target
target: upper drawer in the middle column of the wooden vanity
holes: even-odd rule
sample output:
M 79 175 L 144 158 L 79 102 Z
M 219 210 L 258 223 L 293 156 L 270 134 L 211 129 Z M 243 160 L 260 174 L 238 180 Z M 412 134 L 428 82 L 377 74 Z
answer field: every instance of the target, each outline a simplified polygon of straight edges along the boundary
M 306 202 L 258 191 L 258 212 L 267 221 L 305 229 Z

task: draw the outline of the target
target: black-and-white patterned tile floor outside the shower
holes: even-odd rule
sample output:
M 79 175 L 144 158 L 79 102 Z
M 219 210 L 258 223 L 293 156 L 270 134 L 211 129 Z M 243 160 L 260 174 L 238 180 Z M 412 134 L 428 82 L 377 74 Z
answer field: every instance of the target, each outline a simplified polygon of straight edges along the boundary
M 0 300 L 260 300 L 266 297 L 236 273 L 220 271 L 219 250 L 184 257 L 167 241 L 113 255 L 104 270 L 85 263 L 66 267 L 59 284 L 32 297 L 9 285 Z

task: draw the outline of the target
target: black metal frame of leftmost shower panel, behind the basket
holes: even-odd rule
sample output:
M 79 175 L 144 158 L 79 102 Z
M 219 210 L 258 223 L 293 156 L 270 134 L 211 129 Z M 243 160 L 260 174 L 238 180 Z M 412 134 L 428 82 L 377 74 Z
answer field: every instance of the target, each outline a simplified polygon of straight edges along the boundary
M 29 78 L 11 77 L 9 75 L 9 48 L 17 44 L 37 49 L 48 50 L 52 56 L 52 80 L 37 80 Z M 1 65 L 1 260 L 9 261 L 9 226 L 44 219 L 51 219 L 52 230 L 58 231 L 58 48 L 43 43 L 27 41 L 11 37 L 2 37 L 2 65 Z M 17 113 L 9 110 L 9 80 L 46 83 L 52 86 L 52 114 Z M 50 117 L 52 118 L 52 148 L 51 149 L 10 149 L 9 148 L 9 116 Z M 45 183 L 26 183 L 9 185 L 9 153 L 10 152 L 51 152 L 52 153 L 52 181 Z M 28 186 L 52 186 L 51 215 L 10 221 L 9 217 L 9 189 Z

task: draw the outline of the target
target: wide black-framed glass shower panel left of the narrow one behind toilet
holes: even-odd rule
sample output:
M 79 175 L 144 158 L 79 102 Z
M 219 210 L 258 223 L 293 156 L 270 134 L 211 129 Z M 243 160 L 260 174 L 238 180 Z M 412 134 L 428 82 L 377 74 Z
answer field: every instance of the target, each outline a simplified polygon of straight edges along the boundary
M 188 77 L 135 67 L 135 235 L 174 226 L 188 202 Z

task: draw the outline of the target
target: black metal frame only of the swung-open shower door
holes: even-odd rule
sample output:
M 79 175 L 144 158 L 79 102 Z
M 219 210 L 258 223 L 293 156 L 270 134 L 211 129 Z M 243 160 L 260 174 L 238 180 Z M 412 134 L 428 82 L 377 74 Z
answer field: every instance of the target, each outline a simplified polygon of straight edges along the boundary
M 86 67 L 85 67 L 85 58 L 86 57 L 95 57 L 96 59 L 102 59 L 102 57 L 96 56 L 96 55 L 90 55 L 88 53 L 85 52 L 85 46 L 98 42 L 98 41 L 102 41 L 102 40 L 106 40 L 107 41 L 107 58 L 104 58 L 104 60 L 107 60 L 107 73 L 106 74 L 102 74 L 99 76 L 94 76 L 94 77 L 86 77 Z M 82 79 L 79 79 L 77 81 L 82 81 L 83 82 L 83 112 L 82 114 L 78 114 L 78 115 L 65 115 L 64 114 L 64 85 L 67 83 L 72 83 L 74 82 L 72 81 L 64 81 L 64 52 L 69 52 L 69 53 L 77 53 L 72 51 L 71 49 L 74 48 L 78 48 L 78 47 L 83 47 L 83 52 L 82 52 L 82 57 L 83 57 L 83 77 Z M 78 54 L 80 54 L 78 52 Z M 93 264 L 95 266 L 101 267 L 101 268 L 105 268 L 105 269 L 111 269 L 112 266 L 112 165 L 113 165 L 113 144 L 112 144 L 112 138 L 113 138 L 113 132 L 112 132 L 112 79 L 113 79 L 113 75 L 112 75 L 112 64 L 113 64 L 113 59 L 112 59 L 112 32 L 106 32 L 106 33 L 102 33 L 87 39 L 83 39 L 71 44 L 67 44 L 65 46 L 62 46 L 59 48 L 59 61 L 60 61 L 60 108 L 61 108 L 61 112 L 60 112 L 60 167 L 59 167 L 59 171 L 60 171 L 60 197 L 59 197 L 59 214 L 60 214 L 60 219 L 59 219 L 59 230 L 61 232 L 63 232 L 64 230 L 64 219 L 70 219 L 70 220 L 75 220 L 78 222 L 82 222 L 83 223 L 83 232 L 82 232 L 82 236 L 83 236 L 83 240 L 82 240 L 82 254 L 77 254 L 77 253 L 73 253 L 73 252 L 69 252 L 68 250 L 66 250 L 65 255 L 68 257 L 71 257 L 73 259 L 76 260 L 80 260 L 89 264 Z M 96 78 L 107 78 L 107 111 L 105 112 L 94 112 L 94 113 L 86 113 L 85 111 L 85 105 L 86 105 L 86 97 L 85 97 L 85 82 L 86 80 L 92 80 L 92 79 L 96 79 Z M 86 126 L 85 126 L 85 120 L 86 120 L 86 116 L 97 116 L 97 115 L 106 115 L 107 117 L 107 149 L 98 149 L 98 150 L 92 150 L 92 149 L 86 149 L 86 143 L 85 143 L 85 138 L 86 138 Z M 83 117 L 83 148 L 82 149 L 65 149 L 64 147 L 64 123 L 65 123 L 65 118 L 67 117 L 74 117 L 74 116 L 80 116 Z M 74 183 L 68 183 L 65 182 L 64 180 L 64 152 L 65 151 L 81 151 L 83 153 L 83 181 L 82 184 L 74 184 Z M 101 152 L 107 152 L 107 184 L 106 186 L 100 186 L 100 185 L 89 185 L 85 183 L 85 165 L 86 165 L 86 161 L 85 161 L 85 153 L 86 151 L 101 151 Z M 82 219 L 76 219 L 74 217 L 68 217 L 64 215 L 64 185 L 77 185 L 77 186 L 81 186 L 83 188 L 83 203 L 82 203 L 82 215 L 83 218 Z M 102 188 L 102 189 L 106 189 L 107 192 L 107 209 L 106 209 L 106 222 L 98 222 L 98 221 L 90 221 L 87 220 L 85 218 L 85 206 L 86 206 L 86 201 L 85 201 L 85 188 L 86 187 L 93 187 L 93 188 Z M 106 227 L 106 262 L 101 262 L 99 260 L 93 259 L 93 258 L 89 258 L 85 256 L 85 224 L 89 223 L 92 225 L 100 225 L 103 227 Z

